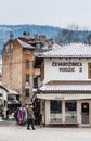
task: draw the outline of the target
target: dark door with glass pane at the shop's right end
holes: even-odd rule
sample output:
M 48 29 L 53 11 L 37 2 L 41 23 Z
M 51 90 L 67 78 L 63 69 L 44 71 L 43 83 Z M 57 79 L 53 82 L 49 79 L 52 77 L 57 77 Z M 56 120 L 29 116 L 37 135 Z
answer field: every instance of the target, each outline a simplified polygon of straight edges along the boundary
M 81 124 L 89 124 L 89 103 L 81 103 Z

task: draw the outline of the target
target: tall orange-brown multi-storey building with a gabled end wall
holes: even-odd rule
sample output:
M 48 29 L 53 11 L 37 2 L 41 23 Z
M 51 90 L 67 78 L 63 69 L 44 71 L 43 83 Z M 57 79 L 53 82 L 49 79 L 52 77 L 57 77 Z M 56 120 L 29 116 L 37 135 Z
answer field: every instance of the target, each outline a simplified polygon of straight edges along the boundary
M 12 34 L 2 50 L 2 86 L 17 91 L 22 103 L 32 94 L 34 50 L 34 46 L 14 39 Z

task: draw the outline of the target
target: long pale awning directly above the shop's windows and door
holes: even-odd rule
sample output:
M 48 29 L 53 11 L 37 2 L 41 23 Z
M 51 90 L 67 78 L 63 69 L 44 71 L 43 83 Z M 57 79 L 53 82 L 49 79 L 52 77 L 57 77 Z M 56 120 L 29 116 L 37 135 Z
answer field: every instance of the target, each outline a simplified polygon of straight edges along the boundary
M 91 94 L 37 94 L 37 98 L 43 100 L 84 100 L 91 99 Z

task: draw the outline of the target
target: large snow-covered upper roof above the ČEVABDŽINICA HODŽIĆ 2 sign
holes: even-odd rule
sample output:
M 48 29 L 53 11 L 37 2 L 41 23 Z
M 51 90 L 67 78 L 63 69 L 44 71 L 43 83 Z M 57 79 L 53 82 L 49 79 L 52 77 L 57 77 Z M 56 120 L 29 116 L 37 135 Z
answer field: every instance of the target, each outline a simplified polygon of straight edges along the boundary
M 52 50 L 39 53 L 38 57 L 91 57 L 91 46 L 82 43 L 53 44 Z

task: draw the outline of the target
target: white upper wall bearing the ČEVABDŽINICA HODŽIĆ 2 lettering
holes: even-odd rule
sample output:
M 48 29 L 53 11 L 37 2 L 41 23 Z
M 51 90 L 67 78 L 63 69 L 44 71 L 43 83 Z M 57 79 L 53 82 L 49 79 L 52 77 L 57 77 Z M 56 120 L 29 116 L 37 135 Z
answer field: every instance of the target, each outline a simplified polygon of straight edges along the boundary
M 68 65 L 63 66 L 57 64 L 57 63 L 69 63 L 69 62 L 77 63 L 78 65 L 73 64 L 72 66 Z M 91 59 L 90 60 L 44 59 L 44 81 L 43 82 L 46 84 L 50 80 L 70 80 L 70 81 L 88 80 L 89 81 L 91 79 L 88 78 L 88 63 L 91 63 Z M 82 72 L 80 72 L 80 69 L 82 69 Z

